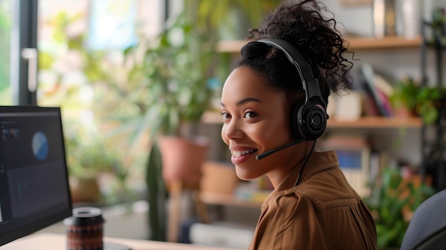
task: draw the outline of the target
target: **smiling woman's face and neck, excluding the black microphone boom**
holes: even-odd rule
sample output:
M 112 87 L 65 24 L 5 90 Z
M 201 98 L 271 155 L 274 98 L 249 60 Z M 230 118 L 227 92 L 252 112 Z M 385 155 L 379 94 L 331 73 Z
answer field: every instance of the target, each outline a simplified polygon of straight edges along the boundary
M 274 92 L 251 68 L 236 68 L 228 76 L 222 90 L 222 139 L 229 145 L 240 179 L 265 174 L 280 179 L 296 166 L 293 159 L 301 155 L 298 147 L 256 160 L 256 155 L 294 140 L 290 106 L 284 94 Z

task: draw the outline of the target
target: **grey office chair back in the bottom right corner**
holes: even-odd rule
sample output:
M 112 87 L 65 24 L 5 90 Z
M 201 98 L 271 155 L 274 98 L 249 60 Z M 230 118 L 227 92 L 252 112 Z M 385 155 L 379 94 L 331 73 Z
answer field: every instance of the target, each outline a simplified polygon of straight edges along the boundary
M 445 241 L 446 189 L 426 199 L 415 210 L 401 244 L 401 250 L 445 249 Z

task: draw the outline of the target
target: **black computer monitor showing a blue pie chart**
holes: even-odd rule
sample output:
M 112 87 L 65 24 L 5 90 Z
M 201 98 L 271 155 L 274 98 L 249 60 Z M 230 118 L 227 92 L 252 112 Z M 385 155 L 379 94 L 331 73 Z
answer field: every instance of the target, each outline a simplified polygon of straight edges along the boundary
M 60 108 L 0 106 L 0 246 L 72 215 Z

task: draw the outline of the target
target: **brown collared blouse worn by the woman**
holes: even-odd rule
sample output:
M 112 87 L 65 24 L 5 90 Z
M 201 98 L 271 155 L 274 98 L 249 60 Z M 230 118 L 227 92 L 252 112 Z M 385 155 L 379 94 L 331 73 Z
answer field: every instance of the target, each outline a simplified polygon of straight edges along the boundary
M 261 206 L 248 249 L 376 249 L 373 218 L 348 184 L 334 151 L 313 152 Z

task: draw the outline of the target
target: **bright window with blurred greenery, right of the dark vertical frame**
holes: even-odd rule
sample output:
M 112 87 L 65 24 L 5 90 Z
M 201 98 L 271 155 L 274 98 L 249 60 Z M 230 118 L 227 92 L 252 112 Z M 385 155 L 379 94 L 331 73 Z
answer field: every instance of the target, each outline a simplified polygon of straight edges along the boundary
M 39 0 L 38 4 L 37 103 L 62 109 L 70 174 L 107 172 L 107 179 L 100 179 L 106 186 L 101 187 L 105 203 L 123 202 L 116 192 L 129 199 L 135 190 L 145 188 L 147 155 L 142 146 L 138 155 L 128 157 L 125 140 L 110 137 L 115 125 L 110 118 L 131 110 L 120 90 L 134 91 L 126 80 L 123 52 L 140 33 L 153 36 L 160 31 L 165 1 Z

